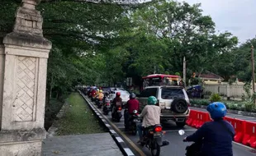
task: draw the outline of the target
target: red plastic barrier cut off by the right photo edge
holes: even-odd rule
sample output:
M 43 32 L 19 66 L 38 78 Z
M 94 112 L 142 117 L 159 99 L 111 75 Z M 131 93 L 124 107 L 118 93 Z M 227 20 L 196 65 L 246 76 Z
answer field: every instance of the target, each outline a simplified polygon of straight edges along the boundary
M 256 148 L 256 123 L 245 122 L 243 145 L 249 145 L 252 148 Z

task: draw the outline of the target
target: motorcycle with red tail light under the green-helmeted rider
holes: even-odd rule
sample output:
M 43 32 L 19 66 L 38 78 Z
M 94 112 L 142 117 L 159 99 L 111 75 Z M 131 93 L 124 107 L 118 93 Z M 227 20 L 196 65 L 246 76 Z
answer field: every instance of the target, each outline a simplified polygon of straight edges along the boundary
M 168 140 L 162 141 L 164 133 L 161 125 L 150 126 L 145 130 L 145 135 L 140 145 L 145 145 L 146 148 L 151 150 L 152 156 L 159 156 L 161 147 L 169 145 Z

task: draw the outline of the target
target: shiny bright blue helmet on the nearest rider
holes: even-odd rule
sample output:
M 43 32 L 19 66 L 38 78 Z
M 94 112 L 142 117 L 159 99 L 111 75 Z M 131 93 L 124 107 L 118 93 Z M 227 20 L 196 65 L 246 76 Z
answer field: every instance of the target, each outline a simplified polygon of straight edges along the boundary
M 211 118 L 213 120 L 225 117 L 226 115 L 226 107 L 224 103 L 215 102 L 211 103 L 207 106 L 206 110 L 210 112 Z

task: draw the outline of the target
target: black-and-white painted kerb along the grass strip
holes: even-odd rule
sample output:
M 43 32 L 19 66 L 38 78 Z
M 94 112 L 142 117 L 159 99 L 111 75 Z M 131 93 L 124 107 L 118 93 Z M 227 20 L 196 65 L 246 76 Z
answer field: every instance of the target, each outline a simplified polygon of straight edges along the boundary
M 90 102 L 90 100 L 80 91 L 79 94 L 83 97 L 83 99 L 88 103 L 90 108 L 92 108 L 93 113 L 99 118 L 99 120 L 107 127 L 107 130 L 111 134 L 112 138 L 116 141 L 116 145 L 121 149 L 122 154 L 125 156 L 135 156 L 128 145 L 126 145 L 125 141 L 121 139 L 120 135 L 116 133 L 116 131 L 111 127 L 110 123 L 102 116 L 102 112 L 99 112 L 97 108 Z

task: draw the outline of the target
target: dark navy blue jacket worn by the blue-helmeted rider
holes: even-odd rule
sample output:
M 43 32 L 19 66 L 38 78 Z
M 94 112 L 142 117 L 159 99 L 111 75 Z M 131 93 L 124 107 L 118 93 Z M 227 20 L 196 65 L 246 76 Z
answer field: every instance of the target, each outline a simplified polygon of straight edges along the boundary
M 187 141 L 197 142 L 197 140 L 203 139 L 201 155 L 233 156 L 232 140 L 234 136 L 234 127 L 230 122 L 221 119 L 215 122 L 206 122 L 194 134 L 187 136 Z

